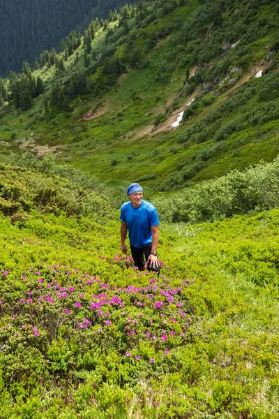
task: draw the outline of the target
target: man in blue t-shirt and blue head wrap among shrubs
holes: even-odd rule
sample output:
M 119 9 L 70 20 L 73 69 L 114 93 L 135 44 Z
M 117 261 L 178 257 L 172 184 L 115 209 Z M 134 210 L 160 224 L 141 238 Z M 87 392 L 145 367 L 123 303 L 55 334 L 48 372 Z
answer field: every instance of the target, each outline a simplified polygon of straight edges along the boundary
M 127 188 L 128 203 L 121 207 L 120 228 L 121 251 L 127 254 L 125 244 L 127 231 L 129 231 L 130 249 L 135 266 L 144 270 L 145 260 L 149 271 L 160 271 L 157 247 L 159 242 L 158 214 L 156 208 L 142 200 L 142 186 L 137 183 Z

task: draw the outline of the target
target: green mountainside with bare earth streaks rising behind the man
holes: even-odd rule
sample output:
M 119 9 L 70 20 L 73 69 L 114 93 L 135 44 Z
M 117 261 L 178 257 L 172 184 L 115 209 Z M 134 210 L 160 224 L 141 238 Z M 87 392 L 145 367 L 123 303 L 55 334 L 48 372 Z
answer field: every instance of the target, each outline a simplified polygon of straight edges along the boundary
M 93 21 L 93 41 L 88 35 L 66 61 L 62 54 L 53 66 L 30 75 L 27 68 L 22 77 L 39 77 L 45 91 L 30 110 L 20 111 L 26 102 L 13 76 L 1 153 L 51 152 L 105 182 L 137 179 L 152 191 L 273 161 L 276 2 L 150 1 L 125 10 L 120 26 L 98 29 Z M 170 128 L 193 98 L 183 122 Z

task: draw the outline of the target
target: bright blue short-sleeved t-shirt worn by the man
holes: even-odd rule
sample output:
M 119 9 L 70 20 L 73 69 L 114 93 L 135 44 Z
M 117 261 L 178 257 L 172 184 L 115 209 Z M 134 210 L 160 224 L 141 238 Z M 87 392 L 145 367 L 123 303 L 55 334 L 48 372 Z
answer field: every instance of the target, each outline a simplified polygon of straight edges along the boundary
M 127 224 L 130 244 L 133 247 L 144 247 L 152 243 L 151 226 L 158 226 L 159 219 L 156 208 L 142 201 L 142 205 L 134 208 L 129 201 L 121 207 L 120 219 Z

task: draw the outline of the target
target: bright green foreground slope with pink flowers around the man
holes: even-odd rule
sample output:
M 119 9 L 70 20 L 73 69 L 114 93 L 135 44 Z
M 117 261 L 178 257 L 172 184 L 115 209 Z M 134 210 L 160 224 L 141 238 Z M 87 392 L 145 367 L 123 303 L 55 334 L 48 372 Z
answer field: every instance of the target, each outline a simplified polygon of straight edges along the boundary
M 163 224 L 154 277 L 119 255 L 118 214 L 62 210 L 61 179 L 1 166 L 29 201 L 0 219 L 1 418 L 276 419 L 278 210 Z

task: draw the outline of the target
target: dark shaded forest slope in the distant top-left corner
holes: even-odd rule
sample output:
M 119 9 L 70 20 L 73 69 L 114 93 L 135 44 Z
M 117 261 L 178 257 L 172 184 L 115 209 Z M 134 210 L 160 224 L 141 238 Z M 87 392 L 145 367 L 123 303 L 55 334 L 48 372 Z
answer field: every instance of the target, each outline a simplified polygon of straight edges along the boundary
M 107 17 L 126 0 L 4 0 L 0 3 L 0 75 L 21 71 L 61 38 L 83 31 L 95 17 Z

